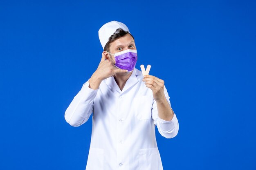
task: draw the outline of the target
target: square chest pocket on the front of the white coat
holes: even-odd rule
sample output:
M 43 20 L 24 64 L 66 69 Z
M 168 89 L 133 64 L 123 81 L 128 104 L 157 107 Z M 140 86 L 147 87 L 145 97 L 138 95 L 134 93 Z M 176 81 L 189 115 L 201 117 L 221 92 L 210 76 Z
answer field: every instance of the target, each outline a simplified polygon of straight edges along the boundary
M 153 101 L 149 95 L 135 97 L 133 100 L 135 117 L 139 120 L 151 119 L 152 104 Z

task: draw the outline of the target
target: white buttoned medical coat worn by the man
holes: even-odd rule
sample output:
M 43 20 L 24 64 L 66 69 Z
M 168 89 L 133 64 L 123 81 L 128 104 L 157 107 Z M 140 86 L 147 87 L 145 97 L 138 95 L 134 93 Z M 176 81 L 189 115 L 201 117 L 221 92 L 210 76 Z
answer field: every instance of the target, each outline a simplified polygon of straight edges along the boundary
M 175 114 L 171 121 L 158 117 L 143 78 L 135 68 L 122 91 L 114 77 L 103 80 L 97 90 L 87 81 L 68 106 L 65 119 L 71 126 L 81 126 L 93 113 L 86 170 L 163 170 L 155 125 L 163 137 L 173 138 L 179 124 Z M 165 87 L 164 93 L 170 104 Z

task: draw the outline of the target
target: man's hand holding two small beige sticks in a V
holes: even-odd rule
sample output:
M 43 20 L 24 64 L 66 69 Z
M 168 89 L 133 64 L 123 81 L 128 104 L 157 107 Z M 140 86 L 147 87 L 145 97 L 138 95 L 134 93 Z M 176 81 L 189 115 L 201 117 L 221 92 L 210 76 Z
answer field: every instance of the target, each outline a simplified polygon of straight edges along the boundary
M 156 102 L 166 100 L 164 95 L 164 80 L 159 79 L 153 75 L 145 75 L 142 81 L 145 82 L 146 87 L 153 91 L 153 97 Z

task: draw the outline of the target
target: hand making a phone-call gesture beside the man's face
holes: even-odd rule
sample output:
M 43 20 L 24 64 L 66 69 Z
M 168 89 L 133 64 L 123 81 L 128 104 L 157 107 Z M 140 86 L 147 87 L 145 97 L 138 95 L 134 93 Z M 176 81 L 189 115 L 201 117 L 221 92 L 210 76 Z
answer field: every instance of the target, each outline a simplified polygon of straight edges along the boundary
M 115 75 L 115 73 L 126 73 L 127 71 L 128 70 L 115 67 L 110 60 L 106 60 L 106 55 L 102 53 L 101 62 L 89 80 L 89 87 L 92 89 L 97 89 L 99 88 L 99 85 L 103 79 L 111 77 L 112 75 Z

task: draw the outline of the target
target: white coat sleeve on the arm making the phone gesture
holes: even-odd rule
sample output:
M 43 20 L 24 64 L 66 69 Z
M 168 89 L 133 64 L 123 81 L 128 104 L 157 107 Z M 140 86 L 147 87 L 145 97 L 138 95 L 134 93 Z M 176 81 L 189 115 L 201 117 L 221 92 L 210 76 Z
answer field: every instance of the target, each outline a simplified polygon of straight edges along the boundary
M 65 120 L 71 126 L 81 126 L 92 114 L 94 108 L 94 98 L 99 89 L 89 88 L 89 80 L 85 82 L 77 95 L 74 97 L 67 110 Z

